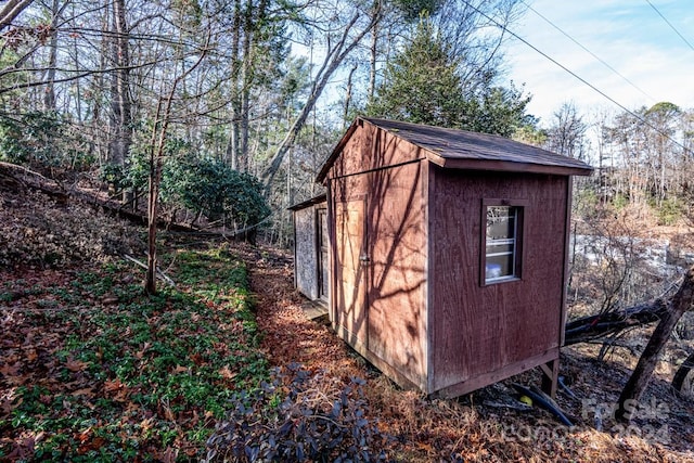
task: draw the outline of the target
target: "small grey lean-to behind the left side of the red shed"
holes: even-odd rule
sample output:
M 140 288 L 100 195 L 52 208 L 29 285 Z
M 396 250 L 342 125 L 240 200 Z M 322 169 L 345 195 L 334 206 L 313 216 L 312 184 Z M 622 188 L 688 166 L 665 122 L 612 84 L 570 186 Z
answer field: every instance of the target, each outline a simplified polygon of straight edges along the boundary
M 290 207 L 294 222 L 294 286 L 326 305 L 330 295 L 327 200 L 325 194 Z

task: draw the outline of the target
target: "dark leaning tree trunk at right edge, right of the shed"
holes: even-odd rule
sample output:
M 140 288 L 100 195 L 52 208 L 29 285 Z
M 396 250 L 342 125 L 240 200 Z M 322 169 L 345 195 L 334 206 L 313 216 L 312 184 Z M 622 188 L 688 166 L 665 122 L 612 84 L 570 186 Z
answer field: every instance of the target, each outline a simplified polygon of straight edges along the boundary
M 677 294 L 672 297 L 669 304 L 669 310 L 665 313 L 658 326 L 656 326 L 646 348 L 637 368 L 631 373 L 631 377 L 625 385 L 625 388 L 619 396 L 618 408 L 616 411 L 616 419 L 624 422 L 629 422 L 637 411 L 638 402 L 641 399 L 641 395 L 648 385 L 651 375 L 655 370 L 658 355 L 665 347 L 665 344 L 670 338 L 670 334 L 677 322 L 682 318 L 684 312 L 692 308 L 694 304 L 694 267 L 692 267 L 684 276 L 682 285 L 678 290 Z

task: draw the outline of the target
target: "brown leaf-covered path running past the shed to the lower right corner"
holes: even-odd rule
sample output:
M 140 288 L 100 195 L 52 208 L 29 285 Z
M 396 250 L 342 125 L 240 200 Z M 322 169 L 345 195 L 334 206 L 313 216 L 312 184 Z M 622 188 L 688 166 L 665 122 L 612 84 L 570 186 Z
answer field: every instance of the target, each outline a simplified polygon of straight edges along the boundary
M 253 262 L 261 347 L 270 363 L 300 362 L 343 382 L 368 378 L 369 417 L 395 438 L 388 449 L 394 461 L 694 462 L 694 402 L 674 391 L 666 374 L 653 378 L 630 426 L 611 417 L 633 356 L 617 351 L 599 361 L 599 347 L 564 349 L 562 374 L 576 398 L 562 391 L 557 401 L 574 420 L 571 428 L 542 409 L 517 402 L 511 382 L 539 385 L 536 371 L 459 400 L 427 399 L 399 389 L 370 368 L 325 320 L 306 317 L 307 301 L 292 287 L 288 255 L 268 248 L 245 259 Z

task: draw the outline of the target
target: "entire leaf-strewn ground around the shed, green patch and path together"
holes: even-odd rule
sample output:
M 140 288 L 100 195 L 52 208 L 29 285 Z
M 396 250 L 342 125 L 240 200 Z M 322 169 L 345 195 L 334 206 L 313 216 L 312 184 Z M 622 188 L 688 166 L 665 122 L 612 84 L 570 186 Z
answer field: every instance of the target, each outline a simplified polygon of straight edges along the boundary
M 162 261 L 177 288 L 147 297 L 142 269 L 105 255 L 137 252 L 121 246 L 137 232 L 79 207 L 0 191 L 0 260 L 24 262 L 0 269 L 0 461 L 197 461 L 236 393 L 298 362 L 314 373 L 311 397 L 367 380 L 390 461 L 694 462 L 694 402 L 669 386 L 692 343 L 670 343 L 629 427 L 609 412 L 635 361 L 625 349 L 605 361 L 599 346 L 564 350 L 577 398 L 557 400 L 573 428 L 524 408 L 510 382 L 427 399 L 308 320 L 287 254 L 170 242 Z M 646 334 L 632 333 L 642 345 Z

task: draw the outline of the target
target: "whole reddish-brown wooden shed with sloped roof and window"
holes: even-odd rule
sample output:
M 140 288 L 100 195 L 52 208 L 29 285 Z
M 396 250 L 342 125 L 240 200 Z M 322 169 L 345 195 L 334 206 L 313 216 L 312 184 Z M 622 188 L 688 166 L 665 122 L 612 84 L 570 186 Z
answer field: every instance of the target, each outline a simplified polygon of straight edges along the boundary
M 356 119 L 318 178 L 334 330 L 426 394 L 454 397 L 535 366 L 553 394 L 571 176 L 590 172 L 501 137 Z

